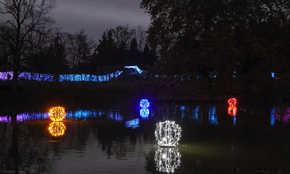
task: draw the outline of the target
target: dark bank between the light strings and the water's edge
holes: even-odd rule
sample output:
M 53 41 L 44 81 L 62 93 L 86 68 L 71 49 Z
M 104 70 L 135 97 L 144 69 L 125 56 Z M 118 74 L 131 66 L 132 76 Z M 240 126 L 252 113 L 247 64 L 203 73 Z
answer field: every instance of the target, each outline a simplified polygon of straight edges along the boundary
M 36 81 L 21 81 L 18 85 L 17 102 L 40 102 L 40 101 L 72 101 L 79 102 L 104 102 L 104 101 L 133 101 L 142 98 L 150 99 L 158 102 L 216 102 L 224 103 L 231 97 L 238 99 L 238 102 L 243 103 L 260 103 L 260 102 L 289 102 L 290 98 L 287 95 L 260 97 L 260 99 L 249 98 L 246 95 L 211 95 L 207 99 L 198 97 L 198 94 L 193 94 L 194 97 L 172 93 L 172 96 L 164 97 L 158 91 L 152 88 L 146 88 L 142 82 L 36 82 Z M 182 91 L 182 90 L 180 90 Z M 163 92 L 163 91 L 162 91 Z M 167 91 L 166 91 L 167 92 Z M 168 92 L 166 93 L 168 94 Z M 12 103 L 15 101 L 14 92 L 11 84 L 0 83 L 0 102 Z

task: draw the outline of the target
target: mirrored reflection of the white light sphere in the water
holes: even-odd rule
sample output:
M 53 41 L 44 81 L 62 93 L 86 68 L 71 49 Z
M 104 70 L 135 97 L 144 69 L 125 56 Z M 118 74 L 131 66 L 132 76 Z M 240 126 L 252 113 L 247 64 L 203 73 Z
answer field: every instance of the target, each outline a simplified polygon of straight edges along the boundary
M 158 148 L 155 153 L 155 163 L 157 171 L 174 172 L 180 166 L 181 155 L 176 148 Z

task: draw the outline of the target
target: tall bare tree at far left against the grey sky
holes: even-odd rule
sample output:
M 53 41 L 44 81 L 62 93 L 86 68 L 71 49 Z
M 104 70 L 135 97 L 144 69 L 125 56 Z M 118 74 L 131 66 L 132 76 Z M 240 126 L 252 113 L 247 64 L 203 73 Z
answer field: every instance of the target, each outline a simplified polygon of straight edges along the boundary
M 21 70 L 23 54 L 37 47 L 35 37 L 48 38 L 52 33 L 49 28 L 55 21 L 49 17 L 56 7 L 55 0 L 4 0 L 1 1 L 0 13 L 10 14 L 11 19 L 3 21 L 0 36 L 8 42 L 13 59 L 13 90 L 17 91 L 17 79 Z M 7 30 L 8 29 L 8 30 Z M 13 31 L 13 32 L 11 32 Z

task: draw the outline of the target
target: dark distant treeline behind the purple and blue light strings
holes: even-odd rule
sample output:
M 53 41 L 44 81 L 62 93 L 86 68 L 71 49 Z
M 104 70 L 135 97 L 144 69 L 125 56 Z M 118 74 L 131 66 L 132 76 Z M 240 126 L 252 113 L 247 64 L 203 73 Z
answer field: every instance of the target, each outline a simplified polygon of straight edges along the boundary
M 12 71 L 13 54 L 7 41 L 0 39 L 0 71 Z M 99 44 L 83 29 L 74 34 L 56 32 L 37 49 L 23 54 L 20 60 L 21 72 L 108 74 L 117 67 L 153 66 L 157 56 L 156 48 L 146 43 L 146 31 L 142 26 L 131 29 L 127 25 L 106 30 Z

